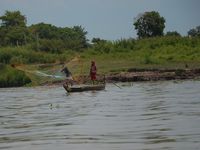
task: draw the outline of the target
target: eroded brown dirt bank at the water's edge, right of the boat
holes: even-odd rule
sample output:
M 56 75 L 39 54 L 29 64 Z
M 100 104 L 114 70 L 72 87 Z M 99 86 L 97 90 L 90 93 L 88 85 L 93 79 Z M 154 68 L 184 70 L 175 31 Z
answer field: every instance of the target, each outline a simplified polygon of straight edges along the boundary
M 195 79 L 200 77 L 200 69 L 129 69 L 128 72 L 110 74 L 106 80 L 120 82 Z

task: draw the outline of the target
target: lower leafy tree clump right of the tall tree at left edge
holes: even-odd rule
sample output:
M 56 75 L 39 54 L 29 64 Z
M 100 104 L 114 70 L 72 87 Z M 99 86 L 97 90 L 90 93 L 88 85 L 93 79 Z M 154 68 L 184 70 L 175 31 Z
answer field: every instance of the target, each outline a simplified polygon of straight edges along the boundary
M 61 52 L 64 49 L 80 50 L 87 47 L 87 32 L 81 26 L 56 27 L 39 23 L 29 27 L 36 49 L 48 52 Z M 54 45 L 52 45 L 54 44 Z

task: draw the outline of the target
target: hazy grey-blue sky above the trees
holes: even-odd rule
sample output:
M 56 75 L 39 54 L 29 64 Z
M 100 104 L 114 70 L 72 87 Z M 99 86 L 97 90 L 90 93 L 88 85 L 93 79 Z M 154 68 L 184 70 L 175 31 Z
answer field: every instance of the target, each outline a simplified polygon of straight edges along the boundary
M 165 18 L 165 32 L 187 35 L 200 25 L 200 0 L 0 0 L 0 16 L 6 10 L 21 11 L 28 25 L 81 25 L 88 31 L 88 39 L 136 38 L 134 18 L 153 10 Z

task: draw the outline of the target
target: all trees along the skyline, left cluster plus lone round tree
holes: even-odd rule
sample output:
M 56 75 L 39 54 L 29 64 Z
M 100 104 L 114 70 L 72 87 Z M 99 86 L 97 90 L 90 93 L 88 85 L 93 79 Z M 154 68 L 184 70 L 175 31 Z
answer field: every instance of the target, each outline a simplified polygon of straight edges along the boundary
M 79 52 L 106 41 L 97 37 L 89 43 L 86 37 L 87 31 L 82 26 L 56 27 L 46 23 L 27 26 L 27 19 L 20 11 L 6 11 L 3 16 L 0 16 L 0 20 L 0 47 L 26 46 L 29 50 L 61 54 L 67 50 Z M 155 11 L 139 14 L 133 26 L 137 31 L 138 39 L 181 37 L 177 31 L 168 31 L 164 34 L 165 18 Z M 200 26 L 190 29 L 188 37 L 200 37 Z M 124 41 L 123 39 L 122 43 L 129 46 L 130 40 L 128 39 L 126 43 Z

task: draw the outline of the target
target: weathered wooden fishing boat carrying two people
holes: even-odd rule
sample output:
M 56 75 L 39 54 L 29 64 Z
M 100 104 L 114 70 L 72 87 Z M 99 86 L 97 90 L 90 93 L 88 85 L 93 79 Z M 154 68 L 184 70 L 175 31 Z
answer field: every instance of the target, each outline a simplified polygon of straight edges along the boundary
M 65 83 L 63 84 L 63 87 L 67 92 L 99 91 L 105 89 L 105 84 L 69 86 Z

